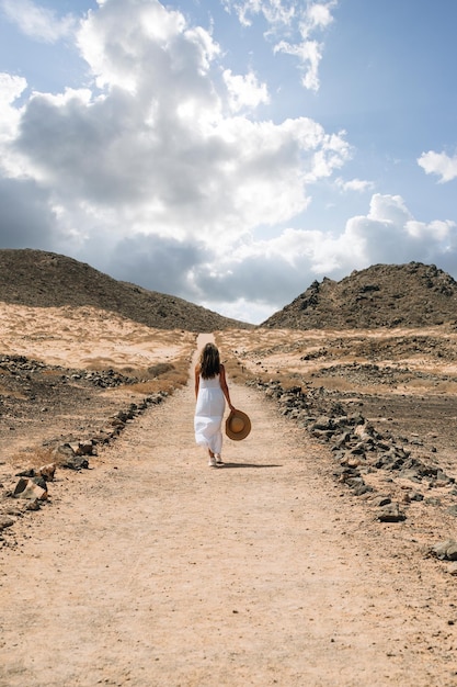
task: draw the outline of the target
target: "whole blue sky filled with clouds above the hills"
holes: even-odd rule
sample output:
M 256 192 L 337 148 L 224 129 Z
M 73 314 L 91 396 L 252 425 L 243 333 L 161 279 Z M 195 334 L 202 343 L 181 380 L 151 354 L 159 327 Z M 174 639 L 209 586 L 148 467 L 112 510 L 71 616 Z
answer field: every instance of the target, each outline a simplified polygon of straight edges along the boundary
M 456 0 L 0 0 L 0 247 L 260 323 L 457 278 Z

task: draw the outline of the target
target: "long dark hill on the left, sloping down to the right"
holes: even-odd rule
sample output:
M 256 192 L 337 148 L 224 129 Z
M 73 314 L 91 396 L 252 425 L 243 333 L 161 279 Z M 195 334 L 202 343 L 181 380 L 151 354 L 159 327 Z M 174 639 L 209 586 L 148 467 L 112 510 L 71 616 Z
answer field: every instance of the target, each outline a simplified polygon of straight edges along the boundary
M 117 281 L 89 264 L 43 250 L 0 250 L 0 301 L 33 307 L 91 305 L 159 329 L 215 331 L 251 327 L 183 299 Z

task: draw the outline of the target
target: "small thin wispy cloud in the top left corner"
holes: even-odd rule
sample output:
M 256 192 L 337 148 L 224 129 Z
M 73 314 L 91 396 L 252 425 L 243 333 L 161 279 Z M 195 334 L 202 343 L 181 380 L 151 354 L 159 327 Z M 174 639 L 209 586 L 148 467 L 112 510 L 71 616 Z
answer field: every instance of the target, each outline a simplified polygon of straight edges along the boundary
M 77 25 L 71 14 L 57 16 L 32 0 L 1 0 L 0 8 L 22 33 L 44 43 L 56 43 L 71 35 Z

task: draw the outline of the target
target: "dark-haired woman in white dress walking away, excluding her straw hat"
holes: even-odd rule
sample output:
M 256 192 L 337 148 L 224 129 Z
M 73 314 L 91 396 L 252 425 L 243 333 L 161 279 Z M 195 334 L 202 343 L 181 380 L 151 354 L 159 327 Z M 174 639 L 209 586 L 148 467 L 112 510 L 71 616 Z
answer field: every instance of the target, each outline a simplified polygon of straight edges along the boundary
M 224 465 L 222 418 L 226 401 L 230 410 L 235 407 L 230 401 L 226 371 L 220 363 L 219 351 L 214 344 L 206 344 L 195 365 L 196 408 L 194 418 L 195 441 L 208 449 L 210 468 Z

